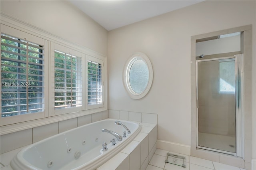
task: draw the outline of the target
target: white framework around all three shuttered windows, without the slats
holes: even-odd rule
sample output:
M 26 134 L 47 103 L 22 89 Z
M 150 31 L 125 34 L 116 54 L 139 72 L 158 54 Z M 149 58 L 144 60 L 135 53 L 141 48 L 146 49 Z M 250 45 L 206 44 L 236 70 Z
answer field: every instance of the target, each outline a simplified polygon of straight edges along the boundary
M 35 116 L 35 114 L 31 114 L 29 119 L 26 120 L 25 118 L 23 119 L 23 117 L 18 117 L 16 116 L 16 122 L 13 119 L 10 119 L 11 123 L 8 123 L 10 125 L 7 125 L 6 123 L 2 124 L 2 119 L 0 117 L 0 135 L 3 134 L 8 134 L 8 133 L 12 133 L 12 132 L 17 132 L 20 130 L 26 130 L 28 128 L 34 128 L 34 127 L 39 127 L 42 125 L 47 125 L 50 123 L 56 123 L 59 121 L 64 121 L 64 120 L 68 120 L 68 119 L 73 119 L 73 118 L 77 118 L 80 116 L 84 116 L 84 115 L 90 115 L 93 113 L 99 113 L 102 111 L 106 111 L 108 108 L 108 104 L 107 104 L 107 58 L 105 55 L 102 55 L 101 53 L 98 53 L 96 51 L 93 51 L 85 46 L 67 41 L 63 38 L 60 38 L 54 34 L 52 34 L 51 32 L 42 30 L 41 28 L 37 28 L 34 27 L 30 24 L 27 24 L 21 20 L 17 20 L 16 18 L 12 18 L 11 16 L 5 15 L 3 13 L 0 14 L 1 16 L 1 27 L 0 27 L 0 32 L 2 32 L 3 34 L 8 34 L 8 32 L 4 32 L 2 30 L 8 30 L 8 29 L 3 29 L 4 27 L 2 26 L 9 26 L 10 28 L 14 29 L 14 30 L 18 30 L 21 32 L 24 32 L 28 35 L 32 35 L 32 37 L 38 37 L 38 38 L 42 38 L 44 39 L 45 45 L 44 44 L 40 44 L 40 45 L 44 45 L 45 49 L 44 49 L 44 57 L 45 57 L 45 78 L 44 78 L 44 95 L 45 95 L 45 110 L 44 110 L 44 114 L 40 115 L 40 116 Z M 11 30 L 11 29 L 10 29 Z M 15 31 L 14 31 L 15 32 Z M 13 37 L 17 37 L 22 39 L 26 38 L 26 36 L 23 36 L 22 34 L 18 33 L 18 34 L 9 34 L 10 36 Z M 18 36 L 17 36 L 18 35 Z M 27 40 L 29 42 L 33 42 L 29 37 L 27 38 Z M 47 45 L 48 43 L 48 45 Z M 52 48 L 51 48 L 51 43 L 57 43 L 60 45 L 63 45 L 65 47 L 69 47 L 70 49 L 74 49 L 75 51 L 79 51 L 82 53 L 83 55 L 83 60 L 82 64 L 84 64 L 83 69 L 85 69 L 85 62 L 86 62 L 86 55 L 90 55 L 93 56 L 94 58 L 97 59 L 101 59 L 102 61 L 104 61 L 104 70 L 103 70 L 103 79 L 104 79 L 104 106 L 103 107 L 98 107 L 98 108 L 94 108 L 94 109 L 90 109 L 86 107 L 86 99 L 84 99 L 86 97 L 86 85 L 84 85 L 84 89 L 82 91 L 82 111 L 69 111 L 69 113 L 66 114 L 60 114 L 60 115 L 55 115 L 54 112 L 52 112 L 52 110 L 54 109 L 54 103 L 52 103 L 52 101 L 54 101 L 54 98 L 52 99 L 52 82 L 54 82 L 54 77 L 52 77 L 52 67 L 54 67 L 54 65 L 52 65 Z M 54 51 L 54 49 L 53 49 Z M 84 71 L 83 71 L 84 72 Z M 0 74 L 1 74 L 1 69 L 0 69 Z M 83 74 L 83 78 L 84 78 L 84 83 L 86 81 L 86 74 Z M 0 86 L 0 90 L 1 90 L 1 86 Z M 1 99 L 1 95 L 0 95 L 0 99 Z M 0 106 L 1 107 L 1 106 Z M 1 109 L 1 108 L 0 108 Z M 33 117 L 34 116 L 34 117 Z M 21 120 L 23 122 L 21 122 Z

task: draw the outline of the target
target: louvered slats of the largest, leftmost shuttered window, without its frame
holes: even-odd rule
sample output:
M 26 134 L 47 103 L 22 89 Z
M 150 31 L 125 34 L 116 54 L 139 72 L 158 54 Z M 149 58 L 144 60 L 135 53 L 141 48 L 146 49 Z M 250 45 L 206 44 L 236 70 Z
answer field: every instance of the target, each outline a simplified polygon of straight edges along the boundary
M 1 116 L 44 111 L 44 46 L 1 34 Z

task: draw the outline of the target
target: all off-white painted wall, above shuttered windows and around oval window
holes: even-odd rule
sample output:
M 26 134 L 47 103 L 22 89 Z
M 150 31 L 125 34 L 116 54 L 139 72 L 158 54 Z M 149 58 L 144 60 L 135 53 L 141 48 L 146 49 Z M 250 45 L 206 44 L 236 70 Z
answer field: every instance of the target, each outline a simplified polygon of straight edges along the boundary
M 205 1 L 109 33 L 68 1 L 0 1 L 1 12 L 108 55 L 109 109 L 158 114 L 158 139 L 190 145 L 190 37 L 252 24 L 252 156 L 256 158 L 256 1 Z M 123 66 L 150 58 L 148 95 L 128 97 Z M 255 162 L 256 164 L 256 162 Z

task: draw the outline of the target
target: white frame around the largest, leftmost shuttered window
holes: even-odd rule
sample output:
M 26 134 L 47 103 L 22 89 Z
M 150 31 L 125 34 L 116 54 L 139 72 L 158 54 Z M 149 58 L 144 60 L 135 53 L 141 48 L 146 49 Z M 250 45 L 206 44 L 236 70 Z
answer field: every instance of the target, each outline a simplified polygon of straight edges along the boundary
M 28 34 L 26 32 L 22 32 L 15 28 L 6 26 L 1 24 L 1 34 L 6 34 L 15 38 L 19 38 L 21 40 L 26 40 L 28 42 L 33 42 L 36 44 L 40 44 L 44 47 L 44 97 L 48 94 L 48 41 L 43 38 L 39 38 L 37 36 L 33 36 L 32 34 Z M 2 91 L 2 88 L 1 88 Z M 1 95 L 2 101 L 2 95 Z M 2 103 L 0 103 L 2 105 Z M 1 106 L 2 107 L 2 106 Z M 2 110 L 2 108 L 0 108 Z M 35 119 L 42 119 L 48 117 L 48 103 L 46 102 L 46 98 L 44 98 L 44 111 L 38 113 L 24 114 L 24 115 L 15 115 L 10 117 L 2 117 L 1 116 L 1 126 L 10 125 L 25 121 L 32 121 Z

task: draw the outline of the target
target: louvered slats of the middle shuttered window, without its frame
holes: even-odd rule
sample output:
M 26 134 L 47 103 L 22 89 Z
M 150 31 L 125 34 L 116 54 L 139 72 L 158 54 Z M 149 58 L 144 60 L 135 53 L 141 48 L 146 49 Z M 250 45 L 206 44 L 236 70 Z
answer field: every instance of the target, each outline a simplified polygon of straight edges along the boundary
M 54 52 L 54 108 L 82 106 L 82 59 Z

